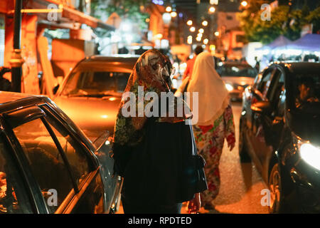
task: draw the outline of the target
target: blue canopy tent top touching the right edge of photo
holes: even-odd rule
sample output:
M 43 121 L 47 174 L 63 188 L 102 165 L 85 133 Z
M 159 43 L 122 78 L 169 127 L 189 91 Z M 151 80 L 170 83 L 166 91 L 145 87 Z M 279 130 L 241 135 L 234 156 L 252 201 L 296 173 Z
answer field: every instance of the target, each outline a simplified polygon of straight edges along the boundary
M 302 38 L 289 43 L 288 49 L 299 49 L 301 51 L 320 52 L 320 34 L 306 34 Z

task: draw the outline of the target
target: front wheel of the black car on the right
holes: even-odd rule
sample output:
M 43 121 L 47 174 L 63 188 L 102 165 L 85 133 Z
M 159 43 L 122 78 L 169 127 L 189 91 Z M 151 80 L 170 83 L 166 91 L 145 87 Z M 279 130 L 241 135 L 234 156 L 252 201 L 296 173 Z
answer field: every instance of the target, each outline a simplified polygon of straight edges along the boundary
M 282 208 L 282 178 L 279 170 L 279 164 L 275 163 L 269 176 L 268 187 L 270 190 L 269 212 L 276 214 L 281 212 Z

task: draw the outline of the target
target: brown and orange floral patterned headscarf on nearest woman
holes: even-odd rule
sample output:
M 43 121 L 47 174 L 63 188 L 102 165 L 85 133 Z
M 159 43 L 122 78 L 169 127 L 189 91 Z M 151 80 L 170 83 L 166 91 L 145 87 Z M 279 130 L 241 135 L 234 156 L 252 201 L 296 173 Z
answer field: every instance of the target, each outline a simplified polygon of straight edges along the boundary
M 138 87 L 143 86 L 144 94 L 148 92 L 154 92 L 158 95 L 158 98 L 161 97 L 161 92 L 170 92 L 171 79 L 170 75 L 173 71 L 173 67 L 169 58 L 164 56 L 160 51 L 152 49 L 146 51 L 139 57 L 137 63 L 134 65 L 132 74 L 129 77 L 127 87 L 124 90 L 124 95 L 122 96 L 121 103 L 119 105 L 119 111 L 117 114 L 116 124 L 114 126 L 114 142 L 120 145 L 136 145 L 142 140 L 143 137 L 143 127 L 146 123 L 147 117 L 144 113 L 142 117 L 136 115 L 134 117 L 124 117 L 122 115 L 122 107 L 127 100 L 126 92 L 132 92 L 139 98 Z M 192 118 L 190 109 L 185 108 L 183 110 L 183 115 L 181 117 L 176 116 L 177 102 L 182 102 L 185 107 L 188 105 L 184 104 L 184 101 L 181 98 L 175 98 L 174 100 L 174 110 L 175 116 L 169 117 L 159 117 L 156 121 L 159 122 L 168 122 L 168 123 L 177 123 L 179 121 L 184 121 L 188 118 Z M 144 108 L 151 101 L 149 100 L 138 100 L 136 99 L 136 110 L 138 110 L 138 103 L 142 103 Z

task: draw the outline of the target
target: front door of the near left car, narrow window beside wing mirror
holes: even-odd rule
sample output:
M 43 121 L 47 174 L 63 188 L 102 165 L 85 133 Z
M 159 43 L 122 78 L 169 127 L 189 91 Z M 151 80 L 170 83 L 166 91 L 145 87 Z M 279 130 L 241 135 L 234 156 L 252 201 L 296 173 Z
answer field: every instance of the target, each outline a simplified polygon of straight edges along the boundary
M 79 139 L 75 138 L 68 128 L 50 112 L 44 105 L 41 108 L 46 112 L 44 119 L 57 140 L 58 147 L 70 165 L 71 177 L 75 183 L 75 195 L 65 208 L 59 213 L 103 213 L 107 212 L 105 191 L 100 175 L 100 166 L 93 159 L 90 150 Z

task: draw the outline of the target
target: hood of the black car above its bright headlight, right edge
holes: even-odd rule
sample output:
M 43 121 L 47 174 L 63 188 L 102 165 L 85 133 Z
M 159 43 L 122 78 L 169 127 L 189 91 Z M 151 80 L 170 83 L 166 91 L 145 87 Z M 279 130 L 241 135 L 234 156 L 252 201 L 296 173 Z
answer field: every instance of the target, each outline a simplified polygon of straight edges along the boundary
M 289 126 L 295 135 L 303 140 L 320 145 L 320 115 L 297 111 L 289 112 Z

